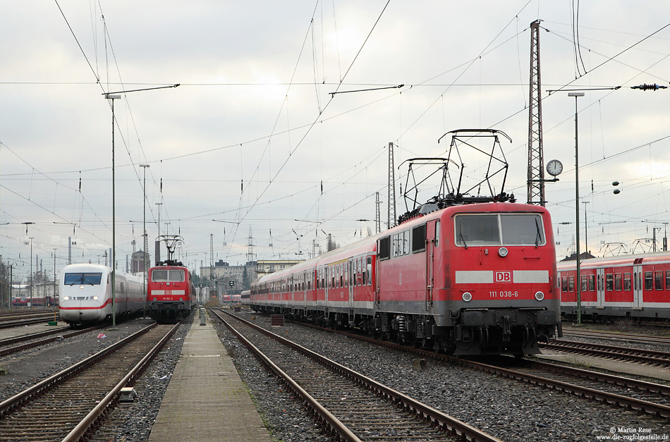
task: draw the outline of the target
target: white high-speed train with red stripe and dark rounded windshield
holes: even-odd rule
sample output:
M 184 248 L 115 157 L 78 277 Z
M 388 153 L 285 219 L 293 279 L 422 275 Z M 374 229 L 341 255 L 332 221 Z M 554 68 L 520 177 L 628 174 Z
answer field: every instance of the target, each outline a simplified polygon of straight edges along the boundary
M 116 317 L 142 310 L 142 280 L 116 271 Z M 92 324 L 111 317 L 111 269 L 98 264 L 71 264 L 61 271 L 59 312 L 70 324 Z

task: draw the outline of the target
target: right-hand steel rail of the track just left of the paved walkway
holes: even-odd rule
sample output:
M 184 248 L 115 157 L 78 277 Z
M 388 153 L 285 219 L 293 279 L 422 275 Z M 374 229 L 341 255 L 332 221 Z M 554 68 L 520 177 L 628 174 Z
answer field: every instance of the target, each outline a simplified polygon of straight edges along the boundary
M 148 367 L 148 365 L 154 360 L 154 357 L 158 355 L 158 353 L 162 350 L 163 346 L 165 343 L 173 336 L 173 334 L 177 331 L 177 329 L 181 326 L 181 322 L 178 322 L 175 324 L 175 326 L 170 329 L 168 333 L 159 340 L 159 342 L 154 345 L 154 347 L 147 352 L 145 357 L 142 357 L 142 360 L 138 362 L 138 364 L 133 367 L 126 376 L 121 379 L 119 383 L 114 386 L 114 388 L 109 391 L 105 395 L 102 400 L 91 410 L 82 420 L 75 426 L 72 431 L 68 433 L 67 436 L 65 436 L 61 442 L 76 442 L 79 441 L 81 438 L 84 438 L 87 436 L 87 432 L 91 429 L 93 424 L 97 422 L 97 420 L 106 412 L 108 407 L 110 405 L 116 403 L 116 400 L 118 398 L 118 393 L 121 392 L 121 388 L 127 386 L 129 383 L 135 381 L 135 379 L 144 372 L 144 370 Z

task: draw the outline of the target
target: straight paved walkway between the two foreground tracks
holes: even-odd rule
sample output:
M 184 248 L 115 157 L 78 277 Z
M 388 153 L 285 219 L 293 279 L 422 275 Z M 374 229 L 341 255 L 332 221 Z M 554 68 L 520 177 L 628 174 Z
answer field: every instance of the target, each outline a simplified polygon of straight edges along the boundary
M 271 442 L 217 331 L 195 317 L 149 442 Z

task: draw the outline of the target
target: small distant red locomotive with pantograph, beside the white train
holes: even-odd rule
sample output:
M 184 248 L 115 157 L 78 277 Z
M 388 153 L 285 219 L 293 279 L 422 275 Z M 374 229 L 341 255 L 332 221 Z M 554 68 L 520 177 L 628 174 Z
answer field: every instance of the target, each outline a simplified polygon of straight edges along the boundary
M 195 287 L 188 268 L 172 259 L 174 247 L 183 240 L 178 235 L 162 235 L 168 259 L 157 262 L 147 273 L 147 310 L 159 322 L 188 317 L 195 306 Z

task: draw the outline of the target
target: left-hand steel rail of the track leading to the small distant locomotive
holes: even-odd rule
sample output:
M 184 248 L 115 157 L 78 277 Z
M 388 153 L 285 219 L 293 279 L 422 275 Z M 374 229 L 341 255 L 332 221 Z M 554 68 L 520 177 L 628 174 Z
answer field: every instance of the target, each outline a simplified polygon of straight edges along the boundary
M 138 336 L 142 336 L 142 334 L 147 333 L 147 331 L 150 331 L 155 326 L 157 326 L 157 323 L 154 322 L 150 326 L 147 326 L 144 329 L 141 329 L 140 331 L 136 331 L 132 335 L 127 336 L 122 340 L 119 340 L 117 343 L 109 345 L 109 347 L 100 350 L 99 352 L 95 353 L 95 355 L 91 355 L 87 357 L 85 360 L 81 360 L 80 362 L 77 362 L 71 367 L 63 369 L 61 370 L 61 372 L 58 372 L 53 376 L 49 376 L 47 379 L 44 379 L 43 381 L 36 383 L 34 386 L 27 388 L 24 391 L 21 391 L 20 393 L 13 395 L 11 398 L 2 401 L 0 403 L 0 416 L 5 415 L 6 412 L 8 412 L 8 410 L 17 407 L 25 400 L 34 398 L 37 395 L 46 392 L 55 383 L 68 379 L 69 377 L 73 376 L 73 374 L 80 372 L 82 369 L 90 367 L 92 364 L 95 364 L 97 361 L 101 360 L 106 355 L 109 355 L 111 352 L 114 352 L 119 348 L 123 347 L 123 345 L 126 345 L 126 343 L 129 343 L 131 340 L 134 340 L 135 338 L 138 338 Z

